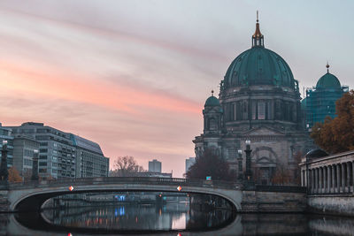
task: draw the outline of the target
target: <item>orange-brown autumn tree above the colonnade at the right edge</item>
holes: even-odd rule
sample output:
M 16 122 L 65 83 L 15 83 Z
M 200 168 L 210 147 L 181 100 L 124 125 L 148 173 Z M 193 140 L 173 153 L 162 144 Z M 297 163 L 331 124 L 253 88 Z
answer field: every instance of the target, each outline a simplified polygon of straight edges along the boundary
M 327 117 L 324 123 L 312 127 L 311 137 L 328 153 L 354 149 L 354 91 L 350 90 L 335 103 L 336 118 Z

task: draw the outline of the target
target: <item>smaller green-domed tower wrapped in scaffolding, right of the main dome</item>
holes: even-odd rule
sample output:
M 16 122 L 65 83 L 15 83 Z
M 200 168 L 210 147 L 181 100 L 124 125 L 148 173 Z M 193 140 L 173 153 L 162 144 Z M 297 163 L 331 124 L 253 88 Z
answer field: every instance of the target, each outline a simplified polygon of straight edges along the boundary
M 348 86 L 341 86 L 338 78 L 329 72 L 319 78 L 316 87 L 306 89 L 306 97 L 302 101 L 305 124 L 308 129 L 317 122 L 324 122 L 327 116 L 335 118 L 335 102 L 349 91 Z

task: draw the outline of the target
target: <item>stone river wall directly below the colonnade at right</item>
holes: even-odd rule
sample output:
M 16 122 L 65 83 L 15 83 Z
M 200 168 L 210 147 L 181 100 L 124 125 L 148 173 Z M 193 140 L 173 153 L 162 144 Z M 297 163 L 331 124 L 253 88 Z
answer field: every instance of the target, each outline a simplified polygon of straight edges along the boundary
M 308 210 L 312 213 L 354 217 L 354 196 L 312 195 L 307 197 Z

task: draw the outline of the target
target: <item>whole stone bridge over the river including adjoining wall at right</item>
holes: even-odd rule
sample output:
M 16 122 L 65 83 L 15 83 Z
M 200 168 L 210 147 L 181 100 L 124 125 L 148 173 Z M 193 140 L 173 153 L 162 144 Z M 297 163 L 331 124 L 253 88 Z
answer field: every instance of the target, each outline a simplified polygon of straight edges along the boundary
M 73 191 L 69 187 L 73 187 Z M 106 177 L 29 181 L 0 186 L 0 211 L 39 211 L 43 202 L 63 194 L 121 191 L 211 194 L 226 199 L 239 212 L 298 212 L 304 211 L 306 202 L 305 187 L 255 186 L 246 190 L 240 183 L 226 181 Z

